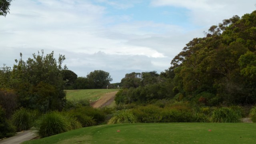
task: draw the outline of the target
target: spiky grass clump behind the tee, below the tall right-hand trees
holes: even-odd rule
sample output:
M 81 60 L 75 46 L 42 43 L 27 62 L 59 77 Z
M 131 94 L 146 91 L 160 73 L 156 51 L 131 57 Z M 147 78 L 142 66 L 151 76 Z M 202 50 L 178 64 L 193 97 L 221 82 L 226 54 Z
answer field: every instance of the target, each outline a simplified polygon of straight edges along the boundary
M 212 112 L 212 122 L 240 122 L 238 114 L 231 108 L 218 108 Z

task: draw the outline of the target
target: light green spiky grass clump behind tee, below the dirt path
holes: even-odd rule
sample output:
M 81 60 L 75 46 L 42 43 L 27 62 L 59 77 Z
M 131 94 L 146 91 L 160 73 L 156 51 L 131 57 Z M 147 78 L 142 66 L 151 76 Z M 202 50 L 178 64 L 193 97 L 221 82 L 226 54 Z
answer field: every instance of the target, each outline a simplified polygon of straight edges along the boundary
M 130 124 L 136 123 L 136 118 L 132 112 L 121 110 L 117 112 L 109 121 L 108 124 Z

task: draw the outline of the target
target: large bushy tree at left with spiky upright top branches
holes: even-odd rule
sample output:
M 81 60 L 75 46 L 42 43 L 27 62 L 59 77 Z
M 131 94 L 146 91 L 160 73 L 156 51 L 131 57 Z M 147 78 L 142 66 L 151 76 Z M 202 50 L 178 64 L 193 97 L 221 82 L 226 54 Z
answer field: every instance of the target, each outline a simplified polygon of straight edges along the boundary
M 22 107 L 42 111 L 62 110 L 66 101 L 61 74 L 65 56 L 59 55 L 57 62 L 54 52 L 46 56 L 43 50 L 41 53 L 33 54 L 33 58 L 28 58 L 26 62 L 20 53 L 20 59 L 15 60 L 12 69 L 10 88 L 17 93 Z

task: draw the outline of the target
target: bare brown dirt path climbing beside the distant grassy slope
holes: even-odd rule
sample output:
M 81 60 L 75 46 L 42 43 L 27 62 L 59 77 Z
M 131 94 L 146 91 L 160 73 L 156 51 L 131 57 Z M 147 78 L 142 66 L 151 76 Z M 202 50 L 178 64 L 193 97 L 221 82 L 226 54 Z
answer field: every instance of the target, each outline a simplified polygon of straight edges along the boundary
M 97 100 L 96 102 L 90 103 L 90 106 L 92 106 L 94 108 L 108 106 L 114 101 L 116 93 L 117 93 L 117 91 L 116 92 L 108 92 L 104 96 L 102 96 L 99 100 Z

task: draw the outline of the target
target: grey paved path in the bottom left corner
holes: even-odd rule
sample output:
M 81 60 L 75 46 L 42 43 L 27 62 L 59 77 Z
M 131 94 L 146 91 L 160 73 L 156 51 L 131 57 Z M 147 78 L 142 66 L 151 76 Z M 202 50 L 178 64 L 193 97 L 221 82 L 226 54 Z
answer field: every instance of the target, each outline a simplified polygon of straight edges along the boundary
M 20 144 L 26 140 L 31 140 L 35 137 L 36 136 L 34 135 L 32 130 L 26 130 L 24 132 L 20 132 L 20 133 L 16 134 L 15 136 L 12 136 L 10 138 L 0 140 L 0 144 Z

